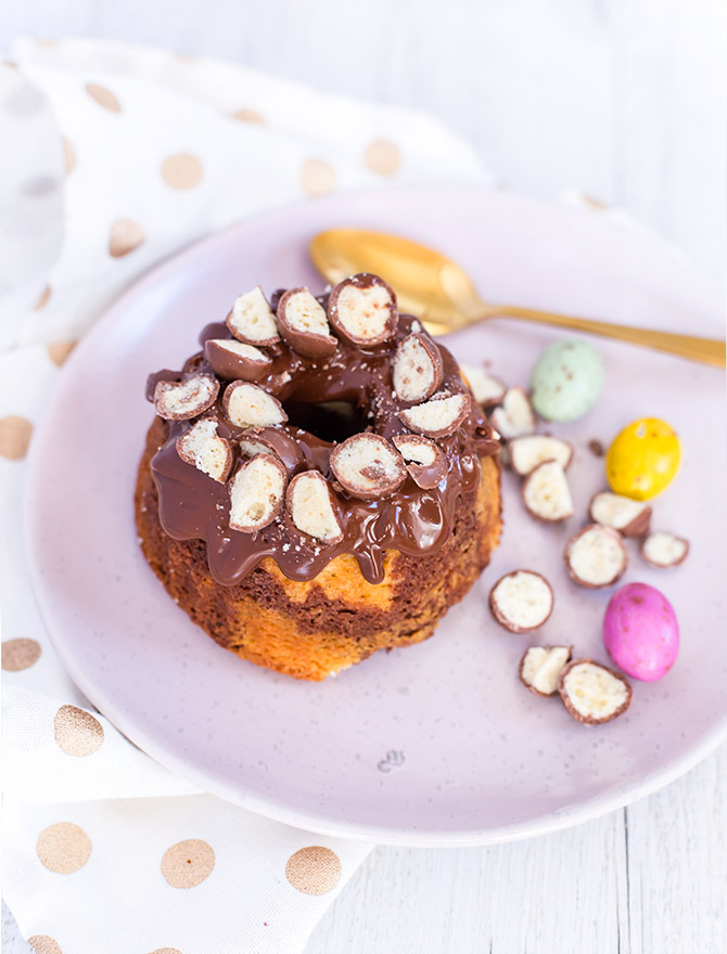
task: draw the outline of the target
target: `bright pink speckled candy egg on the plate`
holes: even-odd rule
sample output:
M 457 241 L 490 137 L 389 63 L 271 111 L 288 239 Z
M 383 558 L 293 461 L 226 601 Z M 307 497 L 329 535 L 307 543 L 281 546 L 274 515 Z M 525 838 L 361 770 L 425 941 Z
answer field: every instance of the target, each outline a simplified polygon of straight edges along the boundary
M 603 617 L 603 644 L 618 669 L 643 682 L 666 675 L 679 652 L 672 604 L 647 583 L 627 583 L 611 597 Z

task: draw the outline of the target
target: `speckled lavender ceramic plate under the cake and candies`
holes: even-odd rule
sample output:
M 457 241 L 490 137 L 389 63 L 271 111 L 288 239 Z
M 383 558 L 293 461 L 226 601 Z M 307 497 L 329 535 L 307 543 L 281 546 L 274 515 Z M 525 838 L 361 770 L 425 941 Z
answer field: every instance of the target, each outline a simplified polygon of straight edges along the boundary
M 505 475 L 506 531 L 492 567 L 433 640 L 378 654 L 323 684 L 295 682 L 218 648 L 170 601 L 144 563 L 132 515 L 135 472 L 151 420 L 146 373 L 175 368 L 200 327 L 256 283 L 321 283 L 308 240 L 336 225 L 408 234 L 460 261 L 484 295 L 576 314 L 713 334 L 687 268 L 642 232 L 598 212 L 497 192 L 411 189 L 343 195 L 275 212 L 164 263 L 120 298 L 72 357 L 35 441 L 28 546 L 52 639 L 71 675 L 138 746 L 245 808 L 322 833 L 403 845 L 485 843 L 582 822 L 675 778 L 725 737 L 724 588 L 727 469 L 724 376 L 625 345 L 599 345 L 605 391 L 582 421 L 552 431 L 576 448 L 576 516 L 562 528 L 524 515 Z M 498 321 L 447 344 L 526 384 L 558 336 Z M 563 543 L 602 488 L 608 443 L 637 416 L 667 418 L 684 464 L 654 503 L 654 526 L 687 536 L 687 562 L 645 564 L 624 582 L 661 588 L 681 624 L 681 653 L 629 712 L 600 727 L 516 679 L 525 647 L 574 643 L 603 659 L 609 592 L 572 584 Z M 50 479 L 52 475 L 52 479 Z M 535 636 L 500 629 L 494 580 L 546 575 L 556 608 Z

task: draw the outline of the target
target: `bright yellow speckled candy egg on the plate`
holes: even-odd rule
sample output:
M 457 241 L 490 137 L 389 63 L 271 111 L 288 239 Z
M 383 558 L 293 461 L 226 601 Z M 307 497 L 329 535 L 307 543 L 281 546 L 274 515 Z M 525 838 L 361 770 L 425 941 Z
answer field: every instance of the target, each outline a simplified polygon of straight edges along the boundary
M 633 500 L 651 500 L 674 479 L 680 453 L 679 438 L 665 421 L 634 421 L 609 448 L 605 473 L 611 489 Z

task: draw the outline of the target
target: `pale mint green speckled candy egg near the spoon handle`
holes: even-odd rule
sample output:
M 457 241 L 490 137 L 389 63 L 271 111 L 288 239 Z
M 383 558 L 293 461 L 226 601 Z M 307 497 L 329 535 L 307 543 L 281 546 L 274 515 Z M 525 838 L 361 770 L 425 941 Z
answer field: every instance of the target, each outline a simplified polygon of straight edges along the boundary
M 547 421 L 575 421 L 594 407 L 604 377 L 603 359 L 586 341 L 554 341 L 533 369 L 533 407 Z

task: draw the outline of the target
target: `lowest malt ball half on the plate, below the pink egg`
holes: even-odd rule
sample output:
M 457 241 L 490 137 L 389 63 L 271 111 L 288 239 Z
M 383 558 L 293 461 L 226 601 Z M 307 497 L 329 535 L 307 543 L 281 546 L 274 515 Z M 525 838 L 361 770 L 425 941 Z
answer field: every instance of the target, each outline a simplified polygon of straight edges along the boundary
M 574 659 L 558 678 L 558 692 L 578 722 L 598 725 L 622 715 L 632 704 L 626 679 L 591 659 Z

